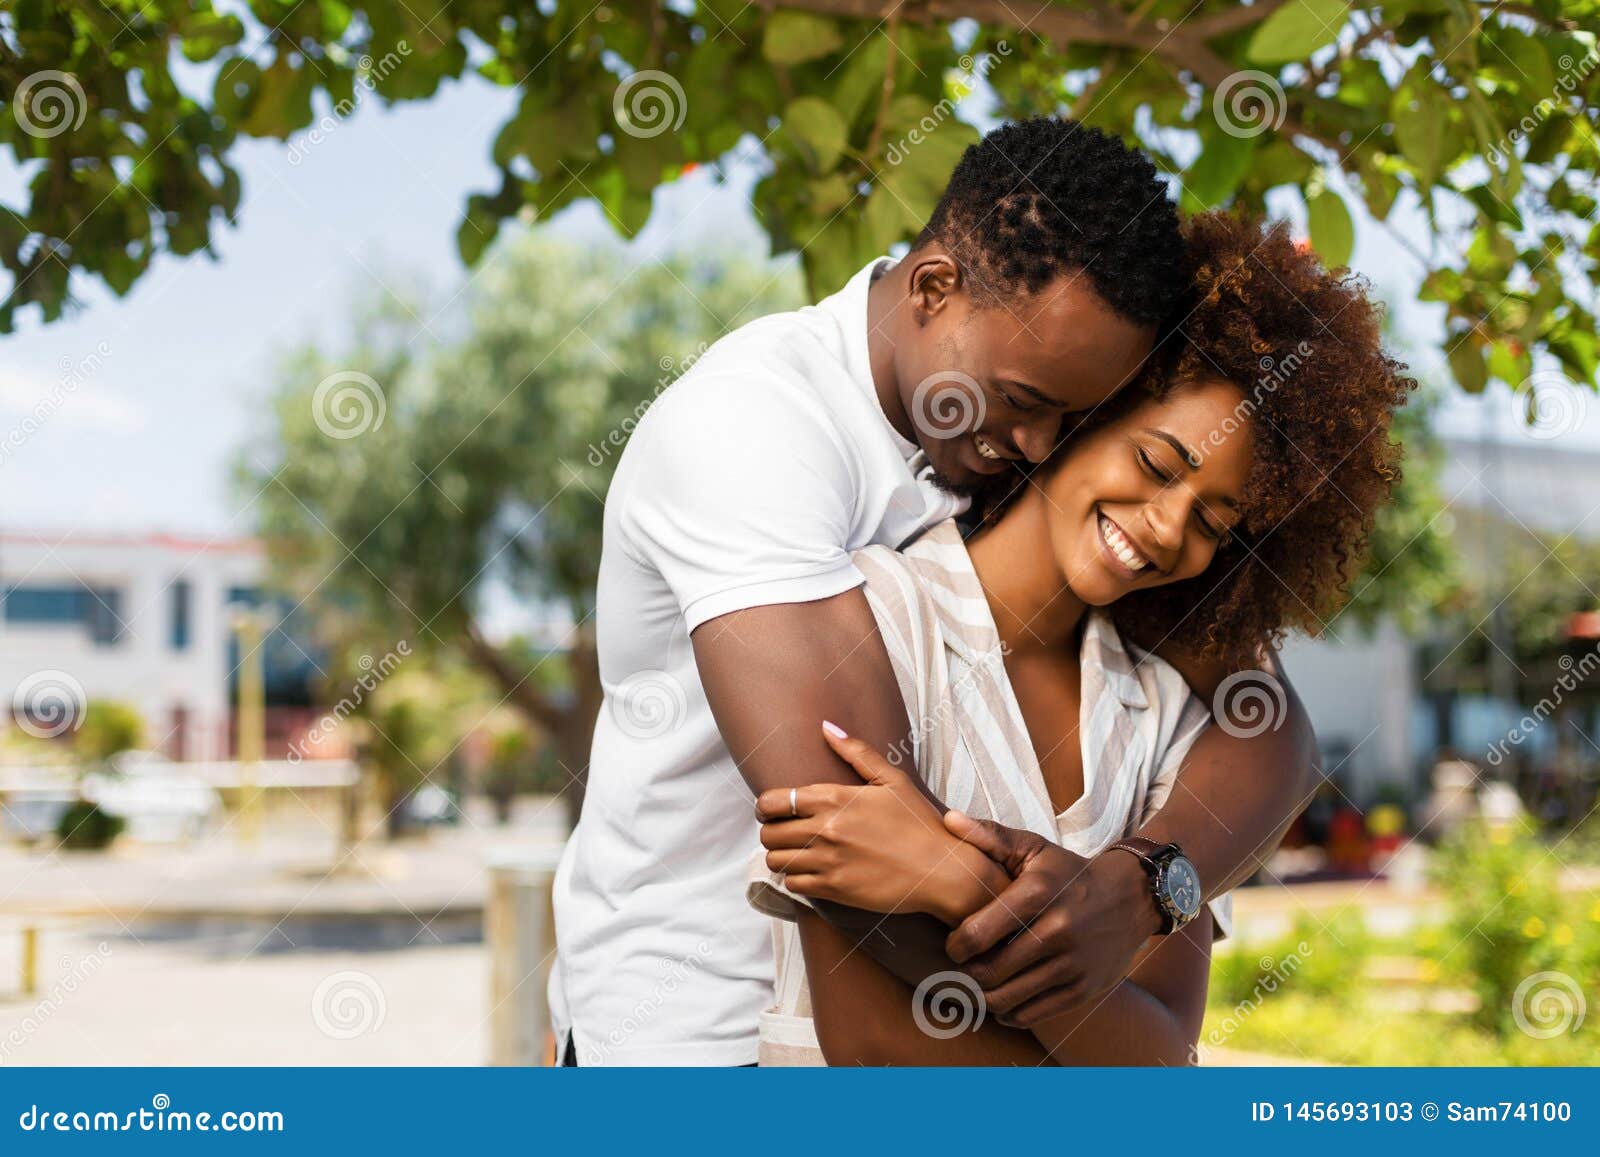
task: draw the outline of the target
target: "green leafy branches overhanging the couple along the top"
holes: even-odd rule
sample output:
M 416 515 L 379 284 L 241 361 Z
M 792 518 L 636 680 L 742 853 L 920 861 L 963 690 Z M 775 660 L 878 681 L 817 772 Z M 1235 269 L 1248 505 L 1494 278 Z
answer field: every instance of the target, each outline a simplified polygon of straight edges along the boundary
M 466 206 L 469 264 L 506 218 L 574 200 L 632 235 L 658 184 L 749 136 L 774 162 L 762 222 L 821 293 L 915 235 L 982 77 L 1002 117 L 1142 146 L 1187 208 L 1291 190 L 1331 264 L 1347 198 L 1379 222 L 1419 205 L 1427 250 L 1395 242 L 1446 307 L 1456 381 L 1542 405 L 1600 362 L 1597 30 L 1595 0 L 14 0 L 0 139 L 27 198 L 0 208 L 0 328 L 56 317 L 75 270 L 125 293 L 155 253 L 210 250 L 240 136 L 315 141 L 469 69 L 522 94 L 498 187 Z

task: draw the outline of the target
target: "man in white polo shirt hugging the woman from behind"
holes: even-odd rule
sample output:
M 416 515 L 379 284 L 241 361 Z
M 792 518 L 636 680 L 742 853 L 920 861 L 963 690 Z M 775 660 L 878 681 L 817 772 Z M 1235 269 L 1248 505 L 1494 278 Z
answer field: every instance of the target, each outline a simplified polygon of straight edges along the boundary
M 1064 414 L 1133 378 L 1184 282 L 1149 160 L 1067 122 L 1008 125 L 968 149 L 902 261 L 738 330 L 650 410 L 606 499 L 606 701 L 555 885 L 568 1063 L 755 1059 L 773 963 L 744 901 L 754 792 L 859 783 L 822 720 L 909 749 L 850 552 L 899 546 L 986 478 L 1042 461 Z M 1221 679 L 1184 674 L 1205 695 Z M 1182 845 L 1206 895 L 1224 890 L 1288 823 L 1302 776 L 1285 768 L 1309 763 L 1306 735 L 1298 719 L 1224 735 L 1142 834 Z M 995 861 L 1014 880 L 950 949 L 1032 930 L 978 960 L 997 1013 L 1026 1023 L 1110 986 L 1160 927 L 1131 855 L 971 837 L 974 882 Z M 931 917 L 822 911 L 904 979 L 950 967 Z

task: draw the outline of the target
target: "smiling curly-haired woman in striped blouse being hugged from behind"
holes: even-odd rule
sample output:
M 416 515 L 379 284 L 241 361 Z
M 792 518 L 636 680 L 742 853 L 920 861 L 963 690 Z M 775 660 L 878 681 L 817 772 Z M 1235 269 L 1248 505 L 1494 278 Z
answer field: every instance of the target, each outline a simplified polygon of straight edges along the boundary
M 1238 671 L 1269 659 L 1286 631 L 1317 632 L 1398 478 L 1387 429 L 1413 382 L 1384 355 L 1363 286 L 1323 270 L 1282 226 L 1206 214 L 1187 240 L 1197 304 L 1171 365 L 1077 434 L 970 542 L 946 523 L 904 552 L 858 554 L 912 725 L 896 762 L 949 807 L 1085 856 L 1160 808 L 1210 725 L 1158 653 Z M 859 746 L 826 731 L 867 767 Z M 757 811 L 768 851 L 750 898 L 782 919 L 763 1063 L 1192 1056 L 1226 898 L 1152 941 L 1091 1008 L 1030 1031 L 990 1021 L 950 1034 L 939 1023 L 949 1005 L 930 1008 L 805 899 L 958 923 L 994 891 L 954 855 L 952 829 L 970 821 L 947 826 L 882 770 L 866 787 L 766 792 Z

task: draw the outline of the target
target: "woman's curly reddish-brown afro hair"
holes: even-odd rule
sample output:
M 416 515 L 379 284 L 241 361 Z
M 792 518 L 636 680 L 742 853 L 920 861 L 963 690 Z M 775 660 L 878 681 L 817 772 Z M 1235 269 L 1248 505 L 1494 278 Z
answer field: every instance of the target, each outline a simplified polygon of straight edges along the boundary
M 1134 592 L 1114 615 L 1134 639 L 1248 666 L 1344 607 L 1400 480 L 1389 426 L 1416 382 L 1384 354 L 1366 283 L 1323 269 L 1283 224 L 1206 213 L 1184 234 L 1190 312 L 1144 387 L 1234 382 L 1245 394 L 1235 427 L 1250 424 L 1254 458 L 1243 517 L 1211 566 Z

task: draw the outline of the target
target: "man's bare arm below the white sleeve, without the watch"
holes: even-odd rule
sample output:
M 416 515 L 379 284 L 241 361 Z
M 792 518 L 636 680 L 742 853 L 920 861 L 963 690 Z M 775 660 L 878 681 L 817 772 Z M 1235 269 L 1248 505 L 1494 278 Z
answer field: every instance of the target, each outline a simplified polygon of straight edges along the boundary
M 702 623 L 691 642 L 712 715 L 755 794 L 861 783 L 822 741 L 822 720 L 878 751 L 910 751 L 899 683 L 861 589 L 733 611 Z M 973 903 L 1005 885 L 1005 874 L 978 848 L 957 855 L 968 871 L 955 875 L 970 880 Z M 902 981 L 917 984 L 952 967 L 949 927 L 931 915 L 883 915 L 829 901 L 816 909 Z

